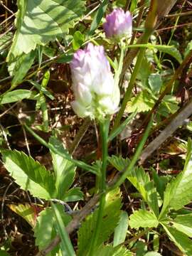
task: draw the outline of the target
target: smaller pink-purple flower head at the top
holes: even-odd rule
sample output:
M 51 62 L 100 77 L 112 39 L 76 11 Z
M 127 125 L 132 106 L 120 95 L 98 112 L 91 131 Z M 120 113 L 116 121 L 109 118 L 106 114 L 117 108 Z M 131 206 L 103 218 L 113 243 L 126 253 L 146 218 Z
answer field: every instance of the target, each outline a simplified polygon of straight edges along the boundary
M 114 9 L 111 14 L 106 16 L 103 24 L 107 38 L 123 38 L 132 36 L 132 14 L 123 9 Z

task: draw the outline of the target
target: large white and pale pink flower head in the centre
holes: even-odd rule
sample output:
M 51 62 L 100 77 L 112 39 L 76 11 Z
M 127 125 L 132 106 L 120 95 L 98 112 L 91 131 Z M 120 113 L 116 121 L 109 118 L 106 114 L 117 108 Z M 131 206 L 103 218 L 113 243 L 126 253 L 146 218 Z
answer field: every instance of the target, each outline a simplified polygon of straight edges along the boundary
M 120 92 L 102 46 L 88 43 L 78 50 L 70 63 L 75 101 L 73 110 L 79 117 L 102 119 L 118 110 Z

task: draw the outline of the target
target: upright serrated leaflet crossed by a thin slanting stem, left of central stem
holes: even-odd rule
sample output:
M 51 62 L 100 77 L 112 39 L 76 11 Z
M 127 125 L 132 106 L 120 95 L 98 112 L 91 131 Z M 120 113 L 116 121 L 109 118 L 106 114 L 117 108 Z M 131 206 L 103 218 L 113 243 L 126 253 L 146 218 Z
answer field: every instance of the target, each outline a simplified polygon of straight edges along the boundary
M 57 146 L 57 149 L 65 154 L 66 150 L 60 140 L 55 137 L 50 137 L 50 144 Z M 51 151 L 51 156 L 53 159 L 53 169 L 55 171 L 55 187 L 58 191 L 58 199 L 64 200 L 65 198 L 66 200 L 70 195 L 65 194 L 65 192 L 67 192 L 73 184 L 76 167 L 63 156 L 53 153 L 53 151 Z

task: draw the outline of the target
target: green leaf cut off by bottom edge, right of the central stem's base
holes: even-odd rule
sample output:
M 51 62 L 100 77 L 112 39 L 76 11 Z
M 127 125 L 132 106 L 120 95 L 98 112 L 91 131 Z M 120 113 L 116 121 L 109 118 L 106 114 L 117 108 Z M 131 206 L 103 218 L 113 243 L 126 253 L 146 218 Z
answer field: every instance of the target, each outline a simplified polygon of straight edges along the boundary
M 132 256 L 132 252 L 128 251 L 124 246 L 112 247 L 111 245 L 102 245 L 95 250 L 92 256 Z

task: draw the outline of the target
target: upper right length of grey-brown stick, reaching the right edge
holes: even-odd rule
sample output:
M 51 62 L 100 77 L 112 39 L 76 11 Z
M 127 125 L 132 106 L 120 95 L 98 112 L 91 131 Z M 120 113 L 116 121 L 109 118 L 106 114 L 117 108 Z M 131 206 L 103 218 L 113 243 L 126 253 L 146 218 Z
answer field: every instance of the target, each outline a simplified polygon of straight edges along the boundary
M 185 120 L 192 114 L 192 100 L 177 114 L 177 116 L 168 124 L 168 126 L 154 139 L 142 152 L 140 156 L 139 164 L 143 164 L 144 161 L 151 156 L 151 154 L 173 134 L 178 127 L 183 125 Z

